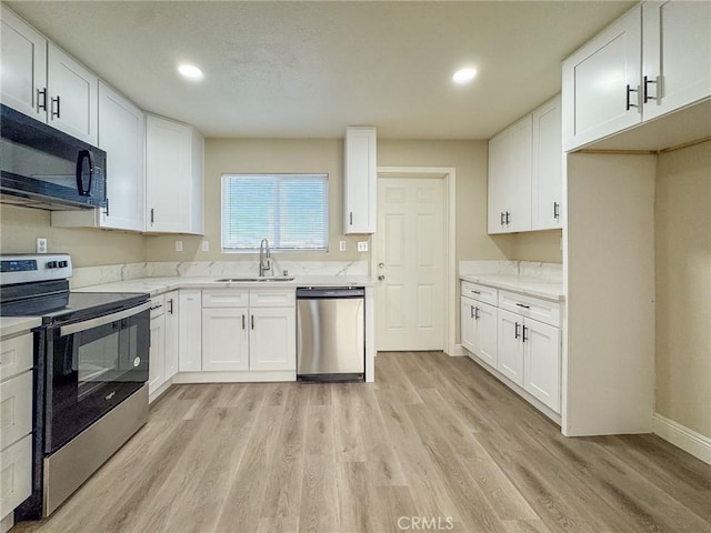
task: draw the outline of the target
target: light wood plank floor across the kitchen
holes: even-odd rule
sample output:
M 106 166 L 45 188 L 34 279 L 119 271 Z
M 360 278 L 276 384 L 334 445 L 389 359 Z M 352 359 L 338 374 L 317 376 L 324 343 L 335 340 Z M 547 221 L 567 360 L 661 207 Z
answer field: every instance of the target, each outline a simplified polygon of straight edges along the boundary
M 381 353 L 377 379 L 176 385 L 11 531 L 711 532 L 711 466 L 653 435 L 565 439 L 467 358 Z

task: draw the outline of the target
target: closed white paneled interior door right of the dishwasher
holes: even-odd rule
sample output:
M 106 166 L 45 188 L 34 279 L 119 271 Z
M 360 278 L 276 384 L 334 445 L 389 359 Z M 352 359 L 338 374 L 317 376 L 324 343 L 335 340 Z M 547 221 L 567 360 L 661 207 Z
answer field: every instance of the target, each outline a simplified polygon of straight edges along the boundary
M 444 349 L 444 191 L 443 179 L 378 179 L 378 350 Z

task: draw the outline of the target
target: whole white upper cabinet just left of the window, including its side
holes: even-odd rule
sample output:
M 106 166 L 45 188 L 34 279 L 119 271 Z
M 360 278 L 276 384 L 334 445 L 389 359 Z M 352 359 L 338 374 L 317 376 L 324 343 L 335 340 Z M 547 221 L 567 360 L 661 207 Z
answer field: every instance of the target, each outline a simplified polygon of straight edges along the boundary
M 202 233 L 204 141 L 192 127 L 146 119 L 146 231 Z

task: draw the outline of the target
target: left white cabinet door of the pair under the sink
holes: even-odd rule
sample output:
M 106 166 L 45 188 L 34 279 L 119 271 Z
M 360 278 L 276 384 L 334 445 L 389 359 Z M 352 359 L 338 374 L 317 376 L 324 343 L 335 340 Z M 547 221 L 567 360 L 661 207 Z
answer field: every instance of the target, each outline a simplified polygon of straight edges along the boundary
M 249 309 L 202 310 L 202 370 L 249 369 Z

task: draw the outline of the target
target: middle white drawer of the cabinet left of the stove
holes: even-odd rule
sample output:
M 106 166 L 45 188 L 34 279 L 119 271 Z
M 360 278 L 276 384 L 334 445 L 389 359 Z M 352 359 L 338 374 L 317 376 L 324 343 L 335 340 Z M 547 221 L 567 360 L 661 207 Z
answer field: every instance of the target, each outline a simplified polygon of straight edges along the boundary
M 0 450 L 32 432 L 32 372 L 0 383 Z

